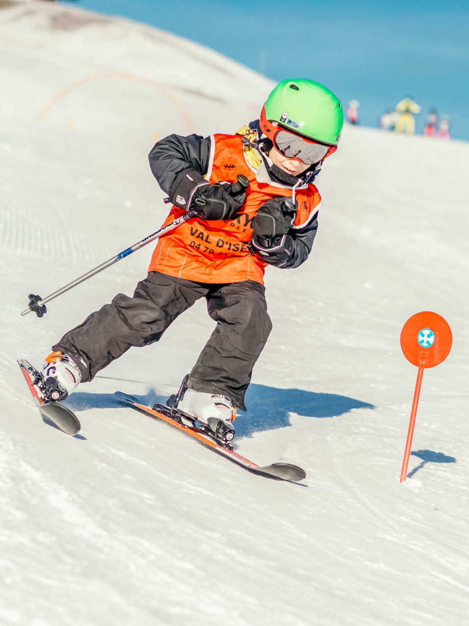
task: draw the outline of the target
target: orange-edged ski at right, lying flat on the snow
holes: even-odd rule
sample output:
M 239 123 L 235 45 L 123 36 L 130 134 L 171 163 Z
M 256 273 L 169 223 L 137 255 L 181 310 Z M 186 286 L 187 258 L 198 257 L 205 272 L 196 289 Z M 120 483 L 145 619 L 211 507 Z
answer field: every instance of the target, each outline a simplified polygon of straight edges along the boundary
M 150 408 L 149 406 L 139 403 L 138 398 L 129 396 L 129 394 L 121 391 L 116 391 L 114 395 L 117 396 L 123 404 L 126 404 L 126 406 L 131 406 L 140 413 L 144 413 L 157 421 L 166 422 L 170 426 L 183 431 L 183 433 L 193 437 L 196 441 L 203 444 L 207 448 L 221 454 L 225 458 L 229 459 L 229 461 L 248 469 L 248 471 L 261 476 L 267 476 L 268 478 L 275 478 L 276 480 L 286 480 L 290 483 L 297 483 L 298 481 L 303 480 L 303 478 L 306 478 L 305 471 L 297 465 L 292 465 L 291 463 L 272 463 L 271 465 L 265 465 L 263 467 L 258 466 L 256 463 L 253 463 L 253 461 L 250 461 L 244 456 L 241 456 L 241 454 L 235 452 L 231 449 L 231 446 L 224 446 L 223 444 L 218 443 L 203 429 L 196 426 L 193 419 L 190 419 L 189 416 L 186 416 L 186 414 L 181 414 L 177 409 L 169 408 L 163 404 L 154 404 L 153 408 Z M 191 422 L 192 425 L 188 426 L 184 424 L 183 417 L 186 418 L 186 421 L 189 421 L 189 423 Z

